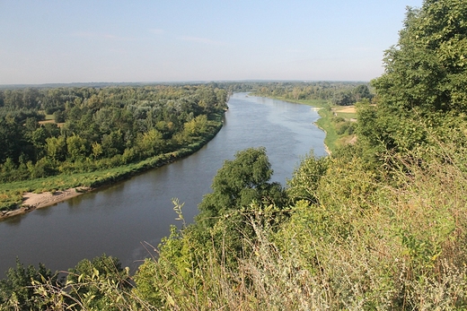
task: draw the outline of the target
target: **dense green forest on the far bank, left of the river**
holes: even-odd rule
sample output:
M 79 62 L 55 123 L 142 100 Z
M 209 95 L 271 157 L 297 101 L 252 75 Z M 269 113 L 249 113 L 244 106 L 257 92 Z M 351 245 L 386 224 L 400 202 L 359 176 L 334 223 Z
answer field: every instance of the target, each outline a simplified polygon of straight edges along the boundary
M 0 181 L 174 151 L 206 134 L 227 98 L 213 85 L 0 90 Z

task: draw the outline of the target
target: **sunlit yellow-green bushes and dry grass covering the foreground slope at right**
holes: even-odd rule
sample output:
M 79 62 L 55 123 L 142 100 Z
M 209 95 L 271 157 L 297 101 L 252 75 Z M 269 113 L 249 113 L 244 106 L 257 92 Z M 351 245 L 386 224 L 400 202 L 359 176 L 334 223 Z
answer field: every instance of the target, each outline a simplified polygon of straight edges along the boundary
M 183 309 L 463 309 L 466 175 L 436 155 L 423 169 L 392 162 L 400 166 L 388 173 L 333 159 L 322 172 L 319 160 L 306 159 L 295 186 L 315 189 L 315 197 L 283 209 L 288 217 L 279 223 L 277 213 L 251 204 L 241 222 L 229 212 L 202 240 L 173 229 L 159 259 L 137 272 L 137 285 L 158 292 L 156 306 Z M 295 186 L 288 194 L 303 197 Z M 231 230 L 242 232 L 243 252 L 229 248 Z

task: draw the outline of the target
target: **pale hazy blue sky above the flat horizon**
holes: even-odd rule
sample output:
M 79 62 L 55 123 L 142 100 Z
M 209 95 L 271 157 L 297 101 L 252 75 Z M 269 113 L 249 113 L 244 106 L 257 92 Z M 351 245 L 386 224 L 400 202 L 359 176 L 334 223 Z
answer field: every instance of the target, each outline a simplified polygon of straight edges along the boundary
M 0 0 L 0 84 L 369 81 L 422 0 Z

